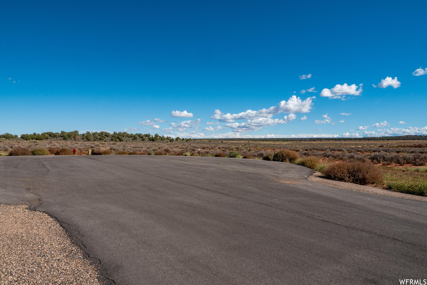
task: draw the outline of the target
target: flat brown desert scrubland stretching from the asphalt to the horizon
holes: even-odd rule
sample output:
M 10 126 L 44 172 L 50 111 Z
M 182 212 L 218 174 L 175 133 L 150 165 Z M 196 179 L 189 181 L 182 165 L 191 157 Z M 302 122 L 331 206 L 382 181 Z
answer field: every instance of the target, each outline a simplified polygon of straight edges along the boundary
M 83 135 L 81 135 L 83 137 Z M 317 171 L 325 171 L 329 165 L 338 162 L 360 162 L 373 165 L 380 171 L 380 178 L 359 183 L 346 179 L 338 179 L 359 184 L 370 184 L 376 187 L 400 191 L 409 194 L 427 196 L 427 140 L 172 140 L 149 138 L 131 139 L 133 135 L 124 137 L 123 141 L 92 141 L 87 139 L 62 140 L 0 140 L 2 155 L 8 155 L 13 149 L 23 147 L 27 155 L 31 151 L 42 149 L 40 154 L 73 154 L 76 148 L 78 155 L 166 155 L 166 156 L 216 156 L 244 159 L 273 160 L 275 153 L 281 150 L 295 152 L 292 163 L 304 165 Z M 114 136 L 113 136 L 114 138 Z M 58 150 L 61 150 L 58 152 Z M 39 154 L 39 153 L 36 153 Z M 289 162 L 289 160 L 288 160 Z M 378 176 L 377 175 L 377 176 Z M 330 177 L 333 178 L 333 177 Z

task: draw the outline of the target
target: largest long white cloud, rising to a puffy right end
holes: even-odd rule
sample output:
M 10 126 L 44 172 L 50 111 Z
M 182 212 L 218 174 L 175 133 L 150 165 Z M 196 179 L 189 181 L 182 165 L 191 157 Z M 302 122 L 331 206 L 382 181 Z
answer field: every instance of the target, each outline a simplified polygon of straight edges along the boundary
M 258 111 L 246 110 L 239 114 L 224 114 L 216 109 L 211 118 L 219 120 L 221 122 L 231 123 L 235 120 L 248 120 L 255 118 L 271 118 L 275 114 L 279 113 L 308 113 L 313 106 L 312 100 L 316 97 L 308 97 L 305 100 L 301 100 L 300 97 L 292 95 L 289 100 L 283 100 L 278 103 L 277 106 L 271 106 L 269 109 L 260 109 Z

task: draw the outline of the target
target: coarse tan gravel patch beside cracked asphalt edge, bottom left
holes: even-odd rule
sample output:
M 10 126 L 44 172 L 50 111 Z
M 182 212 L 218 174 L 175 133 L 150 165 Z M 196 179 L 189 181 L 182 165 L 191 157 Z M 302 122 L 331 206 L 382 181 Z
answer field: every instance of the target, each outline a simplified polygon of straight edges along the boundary
M 0 205 L 1 284 L 103 284 L 58 221 L 26 205 Z

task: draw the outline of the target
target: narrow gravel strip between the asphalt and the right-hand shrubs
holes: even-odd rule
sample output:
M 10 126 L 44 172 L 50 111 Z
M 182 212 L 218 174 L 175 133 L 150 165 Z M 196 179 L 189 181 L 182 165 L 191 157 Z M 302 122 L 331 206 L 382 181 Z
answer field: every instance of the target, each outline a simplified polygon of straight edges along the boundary
M 358 192 L 369 193 L 369 194 L 383 195 L 383 196 L 389 196 L 389 197 L 398 197 L 398 198 L 403 198 L 403 199 L 427 202 L 427 197 L 391 191 L 391 190 L 372 187 L 372 186 L 368 186 L 368 185 L 358 185 L 358 184 L 353 184 L 353 183 L 348 183 L 348 182 L 331 180 L 331 179 L 326 178 L 325 176 L 322 175 L 322 173 L 317 172 L 317 171 L 316 171 L 316 173 L 313 173 L 313 175 L 309 176 L 307 179 L 310 181 L 313 181 L 313 182 L 321 183 L 323 185 L 328 185 L 331 187 L 350 190 L 350 191 L 358 191 Z

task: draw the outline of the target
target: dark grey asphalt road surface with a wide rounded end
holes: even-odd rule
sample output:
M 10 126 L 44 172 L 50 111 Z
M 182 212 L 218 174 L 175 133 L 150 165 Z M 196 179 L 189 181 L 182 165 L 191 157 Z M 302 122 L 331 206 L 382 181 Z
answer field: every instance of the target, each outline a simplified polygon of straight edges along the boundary
M 0 157 L 0 203 L 41 201 L 32 208 L 116 284 L 427 279 L 427 203 L 320 185 L 312 173 L 215 157 Z

